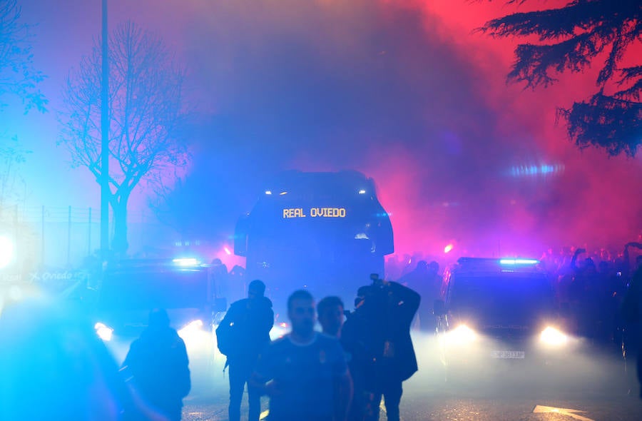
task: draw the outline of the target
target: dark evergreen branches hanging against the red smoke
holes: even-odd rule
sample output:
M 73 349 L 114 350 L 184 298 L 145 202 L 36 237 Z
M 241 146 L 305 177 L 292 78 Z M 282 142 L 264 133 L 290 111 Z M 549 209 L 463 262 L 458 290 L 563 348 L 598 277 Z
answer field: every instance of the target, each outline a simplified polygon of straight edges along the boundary
M 593 145 L 611 155 L 635 156 L 642 143 L 640 0 L 572 0 L 556 9 L 493 19 L 479 31 L 538 41 L 517 46 L 508 75 L 509 81 L 531 88 L 554 83 L 555 73 L 581 72 L 603 59 L 598 91 L 571 108 L 560 108 L 559 115 L 566 118 L 569 136 L 579 148 Z

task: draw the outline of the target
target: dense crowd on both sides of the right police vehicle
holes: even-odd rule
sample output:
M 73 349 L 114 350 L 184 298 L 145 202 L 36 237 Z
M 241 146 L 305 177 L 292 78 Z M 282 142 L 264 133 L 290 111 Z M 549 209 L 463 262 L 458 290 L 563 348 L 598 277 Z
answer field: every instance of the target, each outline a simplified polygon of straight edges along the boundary
M 422 295 L 415 326 L 433 331 L 432 306 L 440 298 L 443 273 L 437 260 L 429 261 L 428 257 L 406 255 L 404 260 L 388 261 L 387 272 Z M 549 249 L 539 262 L 551 282 L 557 307 L 571 324 L 570 330 L 596 345 L 621 347 L 626 334 L 621 307 L 635 268 L 642 265 L 642 243 L 627 243 L 619 251 Z

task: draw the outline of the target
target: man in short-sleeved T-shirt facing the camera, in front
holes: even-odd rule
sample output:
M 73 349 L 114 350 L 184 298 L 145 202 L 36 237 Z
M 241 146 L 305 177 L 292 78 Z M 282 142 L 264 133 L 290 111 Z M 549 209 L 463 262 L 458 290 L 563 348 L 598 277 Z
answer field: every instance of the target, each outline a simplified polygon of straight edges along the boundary
M 292 331 L 260 355 L 253 385 L 270 396 L 270 421 L 345 420 L 350 375 L 337 338 L 315 332 L 315 302 L 306 290 L 287 299 Z

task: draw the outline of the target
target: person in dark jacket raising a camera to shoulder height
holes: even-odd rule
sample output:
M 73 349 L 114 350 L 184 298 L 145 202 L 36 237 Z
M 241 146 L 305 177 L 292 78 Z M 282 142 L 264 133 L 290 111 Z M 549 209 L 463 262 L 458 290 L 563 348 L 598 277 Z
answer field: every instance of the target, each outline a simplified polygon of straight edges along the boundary
M 355 385 L 364 389 L 363 419 L 379 419 L 383 395 L 387 419 L 397 421 L 402 382 L 417 371 L 410 325 L 421 298 L 410 288 L 378 277 L 360 288 L 359 295 L 357 310 L 343 326 L 342 343 L 352 355 Z

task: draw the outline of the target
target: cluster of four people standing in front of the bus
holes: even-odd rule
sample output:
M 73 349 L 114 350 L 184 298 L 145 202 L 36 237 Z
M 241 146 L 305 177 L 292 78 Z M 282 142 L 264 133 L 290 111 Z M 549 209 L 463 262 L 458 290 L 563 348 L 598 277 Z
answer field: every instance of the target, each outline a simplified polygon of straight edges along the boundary
M 399 420 L 402 382 L 417 371 L 410 325 L 418 293 L 373 276 L 350 313 L 336 296 L 315 309 L 312 295 L 297 290 L 287 300 L 290 333 L 270 343 L 274 313 L 264 292 L 253 280 L 216 331 L 230 367 L 230 421 L 240 420 L 245 385 L 250 421 L 259 419 L 261 395 L 270 397 L 269 420 L 374 421 L 382 397 L 388 420 Z

